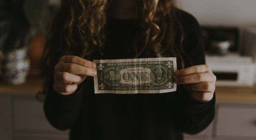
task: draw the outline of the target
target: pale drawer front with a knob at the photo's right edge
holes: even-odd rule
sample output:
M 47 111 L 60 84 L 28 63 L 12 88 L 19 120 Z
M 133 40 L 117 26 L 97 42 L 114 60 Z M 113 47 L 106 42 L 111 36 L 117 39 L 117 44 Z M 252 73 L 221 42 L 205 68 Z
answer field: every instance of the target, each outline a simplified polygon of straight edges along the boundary
M 256 108 L 222 106 L 218 108 L 216 136 L 246 136 L 256 139 Z

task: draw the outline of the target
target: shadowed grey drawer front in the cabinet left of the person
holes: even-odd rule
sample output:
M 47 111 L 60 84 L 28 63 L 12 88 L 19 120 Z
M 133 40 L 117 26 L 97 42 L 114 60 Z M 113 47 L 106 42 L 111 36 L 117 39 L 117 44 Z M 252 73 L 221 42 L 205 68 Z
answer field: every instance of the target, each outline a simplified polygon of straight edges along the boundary
M 58 131 L 49 124 L 44 115 L 43 103 L 35 97 L 15 97 L 13 104 L 15 132 L 68 135 L 67 131 Z

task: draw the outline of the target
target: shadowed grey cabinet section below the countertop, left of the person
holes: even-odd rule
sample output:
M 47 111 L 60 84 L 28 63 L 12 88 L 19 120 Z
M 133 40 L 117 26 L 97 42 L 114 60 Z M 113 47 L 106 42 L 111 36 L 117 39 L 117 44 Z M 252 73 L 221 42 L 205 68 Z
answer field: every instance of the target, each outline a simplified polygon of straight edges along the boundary
M 0 139 L 68 140 L 68 131 L 53 128 L 35 95 L 0 94 Z

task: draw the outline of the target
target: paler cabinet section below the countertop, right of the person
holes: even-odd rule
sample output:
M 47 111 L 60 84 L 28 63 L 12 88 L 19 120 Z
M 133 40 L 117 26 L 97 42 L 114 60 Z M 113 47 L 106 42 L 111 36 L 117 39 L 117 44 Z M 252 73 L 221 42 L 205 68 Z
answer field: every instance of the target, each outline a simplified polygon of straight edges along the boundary
M 185 140 L 255 140 L 256 103 L 217 102 L 214 121 L 197 135 Z

